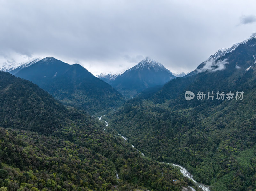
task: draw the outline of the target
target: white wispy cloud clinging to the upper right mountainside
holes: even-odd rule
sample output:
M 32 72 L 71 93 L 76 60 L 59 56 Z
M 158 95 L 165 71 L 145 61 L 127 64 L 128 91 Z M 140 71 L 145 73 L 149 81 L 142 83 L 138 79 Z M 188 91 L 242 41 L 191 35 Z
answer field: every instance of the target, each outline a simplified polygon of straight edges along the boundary
M 227 59 L 224 60 L 218 60 L 217 62 L 213 59 L 207 60 L 205 62 L 205 65 L 202 68 L 197 68 L 196 70 L 198 72 L 216 72 L 216 71 L 221 71 L 226 69 L 226 64 L 228 64 Z

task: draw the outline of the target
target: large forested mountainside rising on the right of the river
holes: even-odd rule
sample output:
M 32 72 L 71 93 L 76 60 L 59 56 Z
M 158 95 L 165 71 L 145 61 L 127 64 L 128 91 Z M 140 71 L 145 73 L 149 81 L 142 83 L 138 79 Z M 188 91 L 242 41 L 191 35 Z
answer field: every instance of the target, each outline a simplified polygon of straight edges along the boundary
M 251 38 L 207 67 L 198 66 L 200 73 L 129 100 L 107 115 L 109 125 L 146 156 L 185 166 L 211 190 L 253 190 L 255 54 L 256 39 Z M 187 90 L 194 99 L 185 99 Z M 216 99 L 218 91 L 225 92 L 224 100 Z M 234 96 L 228 100 L 230 91 Z M 244 92 L 242 100 L 236 100 L 236 91 Z M 197 99 L 198 92 L 205 92 L 205 99 Z M 207 100 L 208 92 L 215 93 L 214 100 Z

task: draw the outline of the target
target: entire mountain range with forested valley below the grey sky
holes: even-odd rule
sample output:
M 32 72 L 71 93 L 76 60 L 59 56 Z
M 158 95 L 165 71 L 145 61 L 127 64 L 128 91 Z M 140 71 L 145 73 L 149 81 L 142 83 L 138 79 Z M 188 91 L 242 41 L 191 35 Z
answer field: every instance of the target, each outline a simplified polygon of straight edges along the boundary
M 108 83 L 55 58 L 0 72 L 0 189 L 255 190 L 255 37 L 184 77 L 148 57 Z

